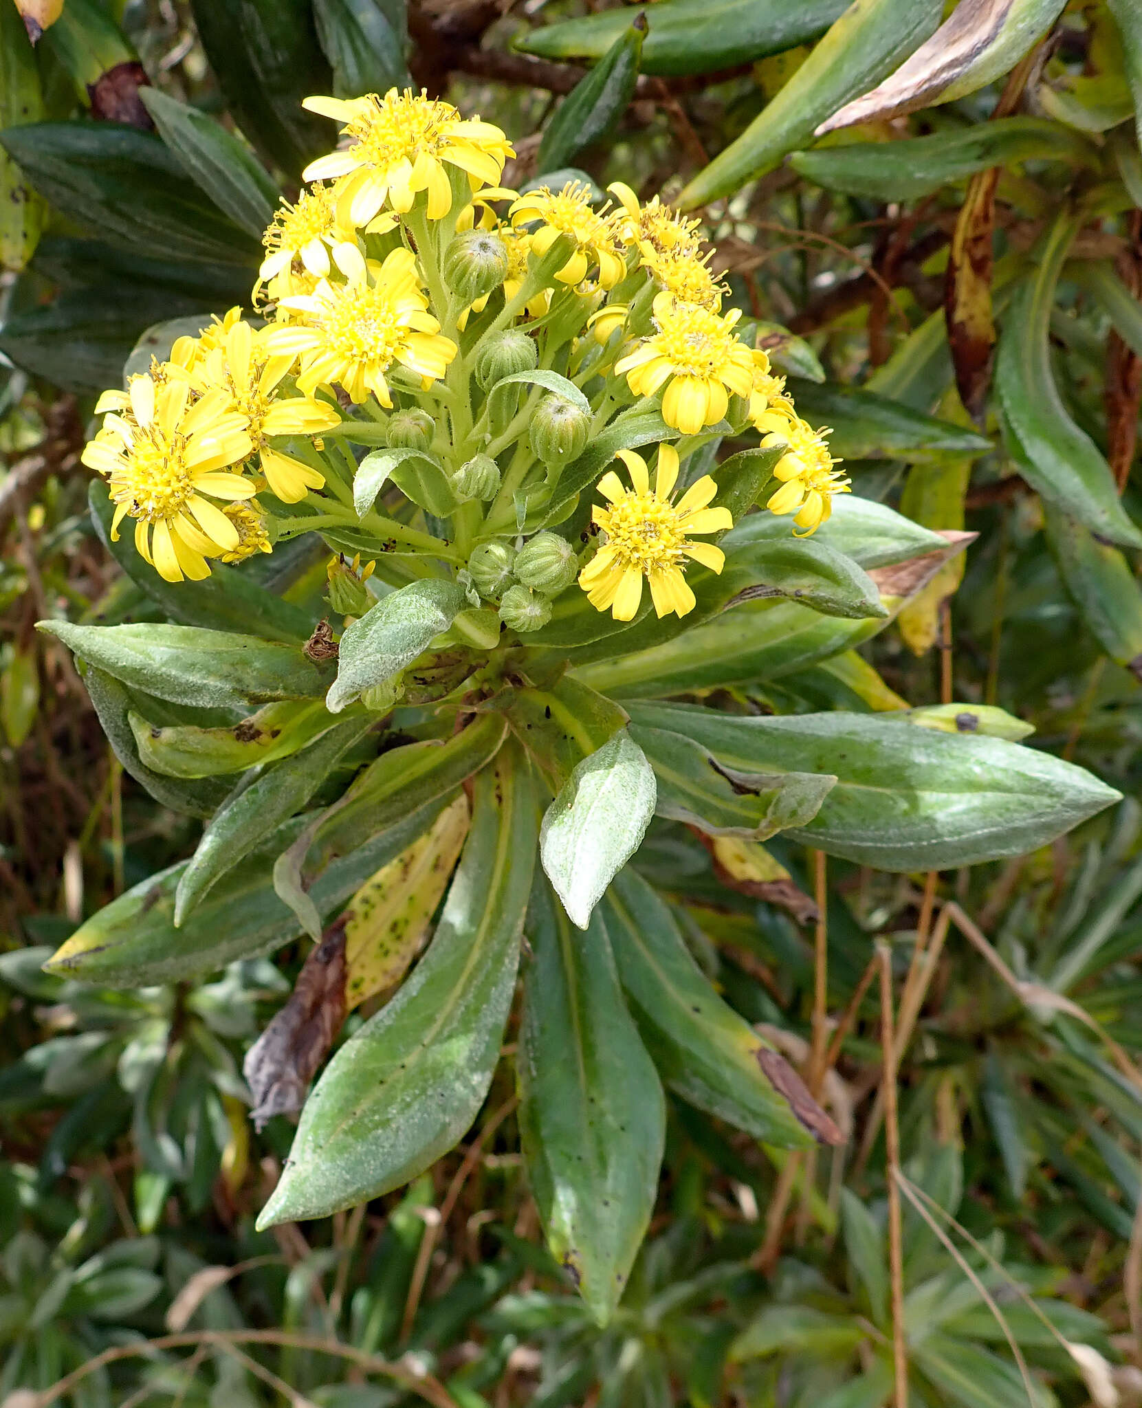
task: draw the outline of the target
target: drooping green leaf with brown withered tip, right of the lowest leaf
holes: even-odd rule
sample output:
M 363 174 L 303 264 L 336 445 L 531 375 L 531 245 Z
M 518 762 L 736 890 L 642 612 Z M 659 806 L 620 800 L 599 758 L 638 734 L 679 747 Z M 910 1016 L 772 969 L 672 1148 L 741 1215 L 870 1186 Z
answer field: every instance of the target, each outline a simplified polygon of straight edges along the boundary
M 767 1143 L 804 1149 L 835 1125 L 796 1073 L 710 986 L 674 917 L 634 870 L 624 870 L 600 910 L 618 974 L 659 1074 L 690 1104 Z M 774 1088 L 793 1093 L 797 1110 Z

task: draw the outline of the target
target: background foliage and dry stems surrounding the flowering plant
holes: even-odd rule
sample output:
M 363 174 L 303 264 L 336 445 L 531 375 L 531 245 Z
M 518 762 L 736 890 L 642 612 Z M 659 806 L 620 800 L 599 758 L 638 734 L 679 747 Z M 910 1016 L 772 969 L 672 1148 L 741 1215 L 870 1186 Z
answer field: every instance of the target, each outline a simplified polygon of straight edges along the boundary
M 876 1408 L 893 1391 L 886 1126 L 908 1401 L 1142 1401 L 1135 8 L 962 0 L 997 55 L 983 86 L 938 93 L 914 59 L 860 125 L 818 142 L 936 30 L 939 4 L 860 0 L 825 38 L 843 3 L 646 8 L 646 37 L 622 48 L 636 11 L 556 0 L 66 0 L 32 49 L 0 0 L 11 1408 L 80 1366 L 65 1401 L 92 1405 Z M 406 1193 L 255 1233 L 291 1129 L 253 1132 L 239 1071 L 287 991 L 279 969 L 130 994 L 39 972 L 197 835 L 124 776 L 70 656 L 32 632 L 177 610 L 113 562 L 87 513 L 94 393 L 152 324 L 242 298 L 276 189 L 327 142 L 300 97 L 383 92 L 406 66 L 535 134 L 506 184 L 575 165 L 700 208 L 734 301 L 774 324 L 770 355 L 801 379 L 803 414 L 835 428 L 856 491 L 977 534 L 962 580 L 949 565 L 859 655 L 836 636 L 820 663 L 759 674 L 751 698 L 1000 705 L 1031 746 L 1128 794 L 1048 850 L 938 877 L 825 870 L 780 841 L 784 876 L 735 876 L 656 824 L 644 869 L 727 1000 L 794 1063 L 829 1036 L 817 1074 L 849 1140 L 766 1150 L 670 1097 L 652 1235 L 604 1331 L 539 1249 L 507 1086 Z M 59 125 L 21 145 L 32 121 Z M 262 584 L 286 572 L 287 597 L 317 600 L 324 563 L 284 558 Z

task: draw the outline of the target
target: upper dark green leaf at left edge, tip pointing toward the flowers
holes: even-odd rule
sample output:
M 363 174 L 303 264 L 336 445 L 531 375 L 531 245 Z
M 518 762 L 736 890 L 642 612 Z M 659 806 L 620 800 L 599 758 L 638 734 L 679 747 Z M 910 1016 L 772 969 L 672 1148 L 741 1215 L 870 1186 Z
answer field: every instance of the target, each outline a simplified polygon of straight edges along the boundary
M 187 183 L 149 132 L 113 122 L 35 122 L 0 142 L 44 199 L 145 255 L 255 266 L 259 245 Z

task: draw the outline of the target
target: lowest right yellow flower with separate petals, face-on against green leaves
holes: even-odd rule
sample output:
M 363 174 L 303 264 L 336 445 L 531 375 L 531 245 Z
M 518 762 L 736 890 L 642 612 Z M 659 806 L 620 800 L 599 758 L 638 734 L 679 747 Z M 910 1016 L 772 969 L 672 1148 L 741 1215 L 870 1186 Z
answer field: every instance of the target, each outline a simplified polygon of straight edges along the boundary
M 610 470 L 600 479 L 600 493 L 610 508 L 596 504 L 591 517 L 607 535 L 604 545 L 579 573 L 579 586 L 597 611 L 608 607 L 615 621 L 632 621 L 642 600 L 644 576 L 651 584 L 655 611 L 683 617 L 694 610 L 694 593 L 683 576 L 687 559 L 700 562 L 711 572 L 721 572 L 725 555 L 708 542 L 690 542 L 689 534 L 721 532 L 732 528 L 728 508 L 708 508 L 718 486 L 703 474 L 682 496 L 670 503 L 670 493 L 679 477 L 679 456 L 673 445 L 659 445 L 655 489 L 646 460 L 634 451 L 621 449 L 618 458 L 631 473 L 634 490 L 624 489 L 622 480 Z

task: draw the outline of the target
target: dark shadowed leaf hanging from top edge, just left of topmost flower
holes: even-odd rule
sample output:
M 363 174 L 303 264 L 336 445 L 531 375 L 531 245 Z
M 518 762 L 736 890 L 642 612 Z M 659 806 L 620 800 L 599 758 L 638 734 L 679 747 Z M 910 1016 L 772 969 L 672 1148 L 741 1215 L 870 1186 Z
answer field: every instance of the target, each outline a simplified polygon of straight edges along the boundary
M 272 166 L 300 177 L 334 145 L 328 120 L 301 107 L 332 90 L 308 0 L 192 0 L 190 8 L 238 127 Z

